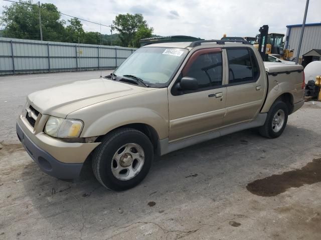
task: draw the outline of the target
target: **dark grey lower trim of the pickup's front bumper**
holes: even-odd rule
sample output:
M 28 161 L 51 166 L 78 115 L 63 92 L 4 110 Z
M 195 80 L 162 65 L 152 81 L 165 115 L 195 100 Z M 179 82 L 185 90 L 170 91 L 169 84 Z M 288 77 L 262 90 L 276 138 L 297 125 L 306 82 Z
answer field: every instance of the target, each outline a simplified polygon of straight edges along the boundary
M 19 140 L 31 158 L 37 162 L 42 171 L 61 179 L 74 179 L 79 176 L 83 163 L 64 163 L 57 160 L 48 152 L 37 146 L 25 134 L 18 123 L 16 124 L 16 129 Z

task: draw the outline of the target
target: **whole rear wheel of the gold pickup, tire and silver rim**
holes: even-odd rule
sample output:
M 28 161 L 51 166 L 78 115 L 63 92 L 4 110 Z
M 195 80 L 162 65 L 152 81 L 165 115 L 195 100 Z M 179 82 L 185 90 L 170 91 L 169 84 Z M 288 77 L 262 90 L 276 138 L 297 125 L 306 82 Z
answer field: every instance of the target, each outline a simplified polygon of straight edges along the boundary
M 276 101 L 267 113 L 265 123 L 259 127 L 262 136 L 275 138 L 282 134 L 288 116 L 287 105 L 283 101 Z

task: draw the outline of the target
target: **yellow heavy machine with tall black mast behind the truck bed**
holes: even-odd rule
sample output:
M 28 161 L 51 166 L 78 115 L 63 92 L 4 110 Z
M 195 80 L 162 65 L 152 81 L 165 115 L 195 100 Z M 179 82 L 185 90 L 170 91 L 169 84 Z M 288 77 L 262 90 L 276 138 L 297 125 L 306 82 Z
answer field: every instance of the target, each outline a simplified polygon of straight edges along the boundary
M 263 25 L 261 28 L 264 27 L 264 33 L 268 32 L 268 25 Z M 261 30 L 260 28 L 260 30 Z M 261 32 L 261 31 L 260 31 Z M 254 44 L 254 47 L 259 48 L 260 43 L 260 36 L 262 37 L 262 32 L 258 35 L 256 35 L 256 43 Z M 293 49 L 284 49 L 284 42 L 283 42 L 284 34 L 281 33 L 267 33 L 265 42 L 266 42 L 266 54 L 274 54 L 275 56 L 284 59 L 284 60 L 290 60 L 293 58 Z M 265 44 L 265 42 L 263 44 Z

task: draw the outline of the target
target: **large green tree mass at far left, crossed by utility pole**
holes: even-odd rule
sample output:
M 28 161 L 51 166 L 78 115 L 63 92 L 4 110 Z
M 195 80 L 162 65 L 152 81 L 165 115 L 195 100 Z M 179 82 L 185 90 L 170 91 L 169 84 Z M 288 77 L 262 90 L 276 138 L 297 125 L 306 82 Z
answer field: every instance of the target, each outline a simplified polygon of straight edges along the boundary
M 13 3 L 4 6 L 0 24 L 5 26 L 3 35 L 7 37 L 40 40 L 39 7 L 31 0 L 20 1 L 28 4 Z M 42 30 L 44 40 L 59 41 L 64 36 L 64 20 L 60 19 L 57 7 L 51 3 L 42 3 Z

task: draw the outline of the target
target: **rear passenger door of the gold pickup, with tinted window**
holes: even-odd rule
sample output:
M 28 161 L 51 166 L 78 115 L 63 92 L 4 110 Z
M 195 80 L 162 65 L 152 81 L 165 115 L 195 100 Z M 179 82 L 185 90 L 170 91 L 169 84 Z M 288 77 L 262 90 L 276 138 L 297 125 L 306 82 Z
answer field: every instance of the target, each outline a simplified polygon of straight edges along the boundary
M 257 57 L 260 56 L 250 47 L 226 48 L 228 82 L 224 125 L 254 119 L 263 104 L 266 76 Z

